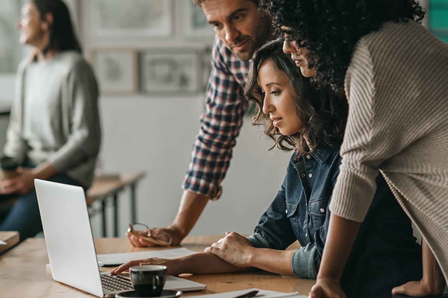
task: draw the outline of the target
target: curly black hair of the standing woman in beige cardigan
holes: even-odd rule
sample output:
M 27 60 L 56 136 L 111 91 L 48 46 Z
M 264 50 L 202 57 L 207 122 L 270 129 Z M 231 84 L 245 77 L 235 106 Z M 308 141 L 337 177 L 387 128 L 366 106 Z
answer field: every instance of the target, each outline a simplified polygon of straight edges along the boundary
M 415 0 L 261 0 L 260 9 L 273 17 L 277 35 L 308 50 L 315 63 L 316 86 L 342 91 L 355 44 L 384 22 L 421 22 L 425 10 Z M 287 26 L 284 32 L 280 26 Z

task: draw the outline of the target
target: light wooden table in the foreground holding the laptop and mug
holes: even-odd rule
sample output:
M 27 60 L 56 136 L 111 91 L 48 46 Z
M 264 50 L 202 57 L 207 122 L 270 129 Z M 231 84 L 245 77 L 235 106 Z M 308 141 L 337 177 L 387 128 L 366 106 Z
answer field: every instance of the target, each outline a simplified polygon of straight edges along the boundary
M 182 246 L 202 251 L 221 236 L 190 236 Z M 147 250 L 130 247 L 125 238 L 95 239 L 97 253 L 117 253 Z M 53 281 L 48 263 L 44 239 L 29 238 L 17 247 L 0 256 L 0 296 L 9 297 L 94 297 L 90 294 Z M 108 271 L 110 268 L 100 268 Z M 233 290 L 259 288 L 279 292 L 298 291 L 308 294 L 314 280 L 294 276 L 280 276 L 268 272 L 239 272 L 207 275 L 182 275 L 193 281 L 206 284 L 207 289 L 186 292 L 183 296 L 214 294 Z

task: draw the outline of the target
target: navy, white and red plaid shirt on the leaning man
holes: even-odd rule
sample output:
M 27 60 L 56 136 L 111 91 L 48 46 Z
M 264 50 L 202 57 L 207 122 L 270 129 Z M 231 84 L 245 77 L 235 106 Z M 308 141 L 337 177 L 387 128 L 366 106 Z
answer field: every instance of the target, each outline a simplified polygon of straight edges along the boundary
M 221 195 L 221 181 L 232 158 L 232 148 L 243 123 L 247 104 L 242 86 L 251 61 L 241 61 L 215 36 L 212 69 L 206 91 L 206 109 L 191 153 L 190 168 L 182 188 L 205 194 L 212 200 Z

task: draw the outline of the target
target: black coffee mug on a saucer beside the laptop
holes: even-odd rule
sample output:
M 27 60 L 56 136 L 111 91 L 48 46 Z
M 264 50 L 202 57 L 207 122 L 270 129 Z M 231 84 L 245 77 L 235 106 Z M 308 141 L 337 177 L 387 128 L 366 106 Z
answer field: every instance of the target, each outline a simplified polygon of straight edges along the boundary
M 167 277 L 165 265 L 142 265 L 129 268 L 129 276 L 138 297 L 157 297 L 162 294 Z

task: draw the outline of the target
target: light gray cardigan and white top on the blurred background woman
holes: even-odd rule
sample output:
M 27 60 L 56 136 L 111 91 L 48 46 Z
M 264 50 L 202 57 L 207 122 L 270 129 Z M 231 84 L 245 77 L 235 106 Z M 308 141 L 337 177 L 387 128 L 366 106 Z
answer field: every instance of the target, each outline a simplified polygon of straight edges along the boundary
M 21 164 L 49 161 L 89 187 L 101 134 L 97 99 L 95 76 L 78 52 L 22 61 L 4 154 Z

